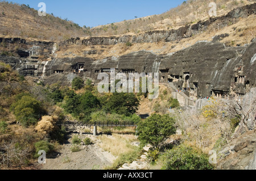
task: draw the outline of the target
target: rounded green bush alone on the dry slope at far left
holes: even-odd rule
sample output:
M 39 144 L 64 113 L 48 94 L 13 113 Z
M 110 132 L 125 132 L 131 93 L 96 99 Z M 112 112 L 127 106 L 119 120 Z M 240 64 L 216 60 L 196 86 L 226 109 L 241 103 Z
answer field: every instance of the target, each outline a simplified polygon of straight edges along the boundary
M 40 117 L 46 113 L 42 104 L 30 95 L 24 95 L 13 103 L 11 111 L 14 112 L 16 120 L 20 121 L 25 127 L 37 123 Z

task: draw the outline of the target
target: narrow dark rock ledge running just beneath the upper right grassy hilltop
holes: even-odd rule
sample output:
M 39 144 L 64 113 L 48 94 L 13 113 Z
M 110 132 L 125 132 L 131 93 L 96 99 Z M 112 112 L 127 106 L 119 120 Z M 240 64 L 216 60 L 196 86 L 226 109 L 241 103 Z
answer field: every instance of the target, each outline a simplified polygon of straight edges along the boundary
M 169 31 L 149 31 L 138 35 L 123 35 L 123 36 L 92 36 L 85 39 L 79 37 L 71 38 L 60 43 L 63 45 L 82 44 L 82 45 L 115 45 L 119 43 L 154 43 L 154 42 L 168 42 L 178 41 L 193 35 L 197 35 L 205 31 L 210 25 L 216 28 L 224 28 L 229 24 L 236 23 L 239 18 L 246 18 L 249 15 L 256 13 L 256 3 L 239 7 L 230 11 L 227 15 L 210 18 L 204 22 L 199 21 L 196 24 L 189 24 L 180 27 L 177 30 Z

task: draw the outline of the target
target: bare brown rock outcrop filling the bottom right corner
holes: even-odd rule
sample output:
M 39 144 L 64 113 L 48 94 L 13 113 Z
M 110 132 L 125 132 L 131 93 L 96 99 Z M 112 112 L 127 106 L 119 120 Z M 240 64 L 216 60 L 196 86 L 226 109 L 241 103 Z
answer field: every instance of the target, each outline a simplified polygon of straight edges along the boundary
M 230 145 L 232 145 L 230 149 L 224 149 L 224 158 L 220 159 L 220 162 L 218 162 L 217 169 L 256 170 L 255 131 L 242 134 L 240 137 L 234 139 Z

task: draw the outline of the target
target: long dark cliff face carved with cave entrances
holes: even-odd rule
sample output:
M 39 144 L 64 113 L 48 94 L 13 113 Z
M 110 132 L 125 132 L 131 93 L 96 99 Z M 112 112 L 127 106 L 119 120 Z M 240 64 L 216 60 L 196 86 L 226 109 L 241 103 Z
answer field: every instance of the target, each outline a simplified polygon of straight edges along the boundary
M 52 45 L 53 46 L 53 45 Z M 61 81 L 69 85 L 81 76 L 94 82 L 99 73 L 157 73 L 160 82 L 173 82 L 180 89 L 191 88 L 197 96 L 210 96 L 229 92 L 232 87 L 243 92 L 246 85 L 256 85 L 256 41 L 247 47 L 225 47 L 221 43 L 199 42 L 171 55 L 156 55 L 139 51 L 120 57 L 92 60 L 86 57 L 52 58 L 40 61 L 23 57 L 0 57 L 22 75 L 32 75 L 45 83 Z M 36 54 L 36 53 L 34 53 Z

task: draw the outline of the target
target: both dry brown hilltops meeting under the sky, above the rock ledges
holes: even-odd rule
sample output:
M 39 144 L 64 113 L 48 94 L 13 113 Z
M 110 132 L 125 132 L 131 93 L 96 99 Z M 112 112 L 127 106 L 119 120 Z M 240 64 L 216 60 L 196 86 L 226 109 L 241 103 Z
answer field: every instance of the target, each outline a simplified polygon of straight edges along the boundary
M 154 30 L 167 31 L 208 19 L 210 2 L 210 0 L 189 0 L 160 15 L 124 20 L 93 28 L 80 27 L 71 20 L 64 20 L 53 14 L 38 16 L 38 11 L 28 5 L 0 2 L 0 35 L 62 41 L 71 37 L 135 35 Z M 234 8 L 253 3 L 255 0 L 215 2 L 217 16 L 222 16 Z

